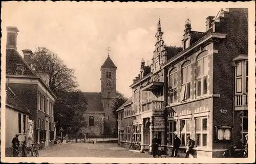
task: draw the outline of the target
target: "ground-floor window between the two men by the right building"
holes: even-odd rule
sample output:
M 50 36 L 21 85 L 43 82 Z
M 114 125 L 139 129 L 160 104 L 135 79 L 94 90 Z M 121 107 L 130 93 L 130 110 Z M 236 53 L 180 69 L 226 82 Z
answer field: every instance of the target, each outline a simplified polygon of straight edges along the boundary
M 186 146 L 187 135 L 190 135 L 190 119 L 181 120 L 181 145 Z

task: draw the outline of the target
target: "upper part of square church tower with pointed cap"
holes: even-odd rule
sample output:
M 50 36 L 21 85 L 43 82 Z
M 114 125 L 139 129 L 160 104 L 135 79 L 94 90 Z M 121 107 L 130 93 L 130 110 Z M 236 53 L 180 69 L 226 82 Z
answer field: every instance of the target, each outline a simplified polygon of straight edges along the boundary
M 103 100 L 111 100 L 116 94 L 116 69 L 117 67 L 109 55 L 100 68 L 101 96 Z

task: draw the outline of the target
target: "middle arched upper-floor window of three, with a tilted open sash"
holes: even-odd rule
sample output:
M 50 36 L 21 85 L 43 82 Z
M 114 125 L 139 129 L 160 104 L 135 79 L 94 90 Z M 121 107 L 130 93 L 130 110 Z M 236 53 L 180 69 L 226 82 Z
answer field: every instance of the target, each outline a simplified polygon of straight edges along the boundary
M 190 72 L 188 72 L 188 67 L 190 68 Z M 183 81 L 183 69 L 185 69 L 185 81 Z M 182 67 L 181 67 L 181 98 L 180 101 L 186 101 L 191 99 L 191 62 L 190 61 L 186 61 L 185 63 L 183 63 Z M 190 73 L 190 78 L 188 78 L 188 73 Z M 188 89 L 189 86 L 189 89 Z M 189 91 L 189 93 L 188 93 Z

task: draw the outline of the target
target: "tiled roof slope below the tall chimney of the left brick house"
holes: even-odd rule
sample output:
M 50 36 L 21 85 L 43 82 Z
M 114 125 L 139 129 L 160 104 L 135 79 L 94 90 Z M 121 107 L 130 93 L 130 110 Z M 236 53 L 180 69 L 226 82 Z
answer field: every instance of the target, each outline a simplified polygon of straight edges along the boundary
M 17 65 L 23 65 L 22 75 L 35 75 L 29 65 L 24 61 L 22 56 L 14 49 L 6 49 L 6 75 L 16 75 Z

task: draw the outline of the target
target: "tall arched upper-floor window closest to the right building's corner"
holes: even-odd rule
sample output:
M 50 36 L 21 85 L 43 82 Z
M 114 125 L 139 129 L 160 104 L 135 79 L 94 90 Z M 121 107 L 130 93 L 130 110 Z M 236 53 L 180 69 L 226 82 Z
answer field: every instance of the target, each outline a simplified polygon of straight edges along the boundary
M 197 59 L 197 80 L 196 80 L 196 94 L 197 96 L 202 96 L 208 93 L 208 72 L 209 72 L 209 57 L 198 57 Z

